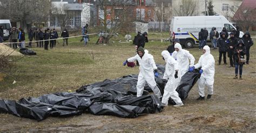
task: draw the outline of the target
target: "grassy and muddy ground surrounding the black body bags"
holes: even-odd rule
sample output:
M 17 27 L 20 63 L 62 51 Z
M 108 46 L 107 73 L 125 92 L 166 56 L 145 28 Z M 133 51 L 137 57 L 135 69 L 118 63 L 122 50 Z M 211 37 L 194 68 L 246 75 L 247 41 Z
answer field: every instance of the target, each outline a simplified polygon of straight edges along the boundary
M 146 43 L 145 48 L 154 56 L 156 63 L 164 64 L 160 53 L 167 48 L 169 42 L 161 43 L 159 38 L 165 39 L 168 35 L 154 35 L 152 38 L 156 41 Z M 149 35 L 149 39 L 152 38 Z M 87 47 L 83 47 L 83 42 L 79 41 L 80 38 L 70 39 L 69 46 L 64 47 L 62 40 L 58 40 L 57 47 L 48 51 L 33 47 L 32 50 L 36 51 L 36 56 L 23 58 L 12 56 L 12 60 L 19 59 L 15 63 L 15 69 L 12 70 L 17 83 L 12 85 L 14 79 L 5 77 L 0 82 L 0 98 L 18 100 L 48 93 L 75 91 L 85 84 L 139 72 L 138 67 L 122 66 L 123 61 L 136 54 L 131 42 L 119 43 L 119 37 L 113 38 L 108 45 L 94 45 L 96 39 L 96 36 L 92 37 Z M 197 62 L 202 51 L 198 50 L 198 47 L 188 50 Z M 217 65 L 218 50 L 211 51 L 216 65 L 214 95 L 210 100 L 196 101 L 198 91 L 195 85 L 185 100 L 185 106 L 180 108 L 169 106 L 159 114 L 122 119 L 85 113 L 67 118 L 49 117 L 42 122 L 0 114 L 0 130 L 255 132 L 255 52 L 254 45 L 251 48 L 250 65 L 244 65 L 243 79 L 235 80 L 233 79 L 234 68 L 228 68 L 228 65 Z

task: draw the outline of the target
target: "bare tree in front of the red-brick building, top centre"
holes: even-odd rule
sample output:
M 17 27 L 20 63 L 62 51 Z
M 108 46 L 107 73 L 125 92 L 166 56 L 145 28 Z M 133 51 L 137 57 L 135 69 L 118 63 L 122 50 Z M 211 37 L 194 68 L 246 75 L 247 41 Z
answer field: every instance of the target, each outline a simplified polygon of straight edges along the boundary
M 127 1 L 105 1 L 99 0 L 96 4 L 99 9 L 99 24 L 106 33 L 105 43 L 109 42 L 114 34 L 120 29 L 130 28 L 133 17 L 133 10 Z

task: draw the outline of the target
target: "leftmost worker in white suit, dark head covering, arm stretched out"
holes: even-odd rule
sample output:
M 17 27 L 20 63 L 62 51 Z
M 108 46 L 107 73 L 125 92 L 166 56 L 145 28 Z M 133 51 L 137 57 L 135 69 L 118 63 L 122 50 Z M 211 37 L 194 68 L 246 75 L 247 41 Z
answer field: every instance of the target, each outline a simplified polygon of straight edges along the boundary
M 137 97 L 142 96 L 144 86 L 147 83 L 154 92 L 154 94 L 160 99 L 162 97 L 161 92 L 157 87 L 156 81 L 154 80 L 154 76 L 159 77 L 154 58 L 151 54 L 148 53 L 148 51 L 145 53 L 143 47 L 139 47 L 137 52 L 138 54 L 136 56 L 128 58 L 125 62 L 123 62 L 123 65 L 126 65 L 127 62 L 139 62 L 139 76 L 136 86 Z

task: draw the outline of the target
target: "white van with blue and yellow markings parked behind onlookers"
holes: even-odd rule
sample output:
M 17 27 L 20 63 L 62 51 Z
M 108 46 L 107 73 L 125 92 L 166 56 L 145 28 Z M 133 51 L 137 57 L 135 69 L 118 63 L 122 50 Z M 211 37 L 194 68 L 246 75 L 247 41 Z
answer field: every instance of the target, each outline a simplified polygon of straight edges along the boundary
M 207 42 L 210 42 L 210 32 L 212 27 L 216 27 L 220 33 L 223 27 L 226 27 L 228 34 L 232 28 L 236 28 L 224 16 L 189 16 L 189 17 L 173 17 L 170 25 L 171 37 L 178 38 L 180 44 L 186 48 L 193 48 L 199 44 L 198 33 L 201 28 L 206 27 L 208 30 Z M 240 32 L 240 38 L 244 35 Z

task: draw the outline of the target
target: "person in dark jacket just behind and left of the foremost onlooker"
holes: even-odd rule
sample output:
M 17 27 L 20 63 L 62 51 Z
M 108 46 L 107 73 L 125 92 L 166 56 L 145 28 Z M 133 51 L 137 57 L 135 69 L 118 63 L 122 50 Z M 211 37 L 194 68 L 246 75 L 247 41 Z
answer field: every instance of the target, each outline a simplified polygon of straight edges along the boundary
M 238 39 L 235 38 L 234 33 L 230 33 L 230 39 L 228 39 L 228 57 L 230 57 L 230 68 L 234 67 L 234 49 L 237 47 Z

